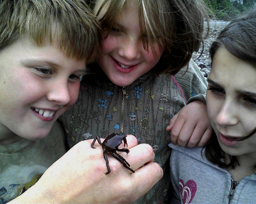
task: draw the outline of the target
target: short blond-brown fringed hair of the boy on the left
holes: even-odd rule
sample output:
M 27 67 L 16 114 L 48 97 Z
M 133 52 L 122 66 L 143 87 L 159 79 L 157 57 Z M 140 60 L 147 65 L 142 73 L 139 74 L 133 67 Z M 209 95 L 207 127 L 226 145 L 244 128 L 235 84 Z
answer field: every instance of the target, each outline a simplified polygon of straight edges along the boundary
M 1 0 L 0 51 L 23 37 L 52 43 L 52 25 L 67 57 L 92 62 L 99 52 L 100 25 L 83 0 Z

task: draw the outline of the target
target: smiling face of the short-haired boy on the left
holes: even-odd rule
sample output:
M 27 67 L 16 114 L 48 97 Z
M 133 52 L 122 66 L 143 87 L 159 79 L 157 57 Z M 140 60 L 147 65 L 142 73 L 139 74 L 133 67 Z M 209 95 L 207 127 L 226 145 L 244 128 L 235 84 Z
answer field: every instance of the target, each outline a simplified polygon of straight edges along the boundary
M 0 51 L 0 143 L 38 140 L 77 100 L 85 59 L 68 58 L 56 41 L 23 38 Z

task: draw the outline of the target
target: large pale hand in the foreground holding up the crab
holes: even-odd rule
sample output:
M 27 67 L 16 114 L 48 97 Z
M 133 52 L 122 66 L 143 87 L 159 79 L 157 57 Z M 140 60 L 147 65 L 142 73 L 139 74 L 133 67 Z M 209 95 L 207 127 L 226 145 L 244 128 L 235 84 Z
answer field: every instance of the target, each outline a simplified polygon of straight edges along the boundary
M 96 149 L 92 149 L 93 140 L 85 140 L 72 147 L 34 186 L 10 203 L 134 203 L 163 177 L 163 170 L 153 162 L 150 145 L 137 145 L 132 135 L 126 139 L 130 152 L 120 155 L 135 173 L 108 156 L 111 173 L 106 175 L 102 147 L 96 142 Z M 124 143 L 120 148 L 124 148 Z

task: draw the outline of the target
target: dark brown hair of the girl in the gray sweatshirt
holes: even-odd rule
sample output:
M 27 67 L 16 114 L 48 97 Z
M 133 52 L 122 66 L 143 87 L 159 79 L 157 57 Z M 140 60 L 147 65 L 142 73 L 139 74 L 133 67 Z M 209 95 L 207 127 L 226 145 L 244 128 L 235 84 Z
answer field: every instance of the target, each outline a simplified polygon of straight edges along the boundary
M 232 20 L 230 24 L 221 31 L 210 48 L 211 59 L 220 47 L 227 48 L 228 52 L 237 58 L 249 62 L 256 69 L 256 9 Z M 243 71 L 243 70 L 241 70 Z M 256 133 L 256 128 L 241 140 L 246 140 Z M 238 163 L 236 156 L 228 155 L 230 161 L 225 162 L 224 152 L 221 149 L 217 136 L 213 134 L 211 140 L 205 145 L 205 157 L 211 163 L 221 168 L 235 168 Z M 255 166 L 256 168 L 256 166 Z

